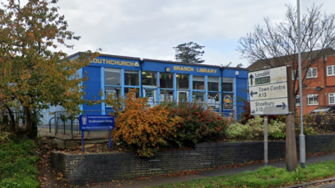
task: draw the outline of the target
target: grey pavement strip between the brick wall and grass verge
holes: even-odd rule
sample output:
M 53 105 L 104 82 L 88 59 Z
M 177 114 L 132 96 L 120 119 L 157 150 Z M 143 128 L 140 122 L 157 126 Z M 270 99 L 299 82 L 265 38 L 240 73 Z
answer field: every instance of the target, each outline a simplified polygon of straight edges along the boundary
M 308 168 L 308 164 L 312 164 L 315 162 L 325 162 L 328 160 L 335 160 L 335 152 L 329 153 L 326 155 L 320 155 L 320 156 L 313 156 L 313 157 L 307 157 L 306 158 L 306 166 Z M 298 165 L 299 165 L 299 159 L 298 159 Z M 174 184 L 178 182 L 186 182 L 190 180 L 198 180 L 202 178 L 209 178 L 214 176 L 221 176 L 221 175 L 233 175 L 237 173 L 242 173 L 245 171 L 255 171 L 261 167 L 264 167 L 265 164 L 251 164 L 247 166 L 240 166 L 237 168 L 231 168 L 231 169 L 210 169 L 210 170 L 204 170 L 200 171 L 198 174 L 190 174 L 190 175 L 182 175 L 178 177 L 170 177 L 168 175 L 161 175 L 161 176 L 152 176 L 152 177 L 145 177 L 145 178 L 136 178 L 136 179 L 130 179 L 130 180 L 117 180 L 114 182 L 106 182 L 103 185 L 90 185 L 91 188 L 103 188 L 103 187 L 119 187 L 119 188 L 140 188 L 140 187 L 154 187 L 157 185 L 164 185 L 164 184 Z M 280 168 L 285 168 L 286 162 L 285 160 L 278 160 L 276 162 L 273 162 L 269 164 L 269 166 L 276 166 Z M 335 178 L 329 178 L 327 180 L 318 180 L 315 182 L 309 182 L 304 185 L 295 185 L 291 187 L 303 187 L 306 185 L 315 185 L 316 183 L 320 182 L 326 182 L 326 181 L 332 181 L 335 180 Z M 290 188 L 291 188 L 290 187 Z

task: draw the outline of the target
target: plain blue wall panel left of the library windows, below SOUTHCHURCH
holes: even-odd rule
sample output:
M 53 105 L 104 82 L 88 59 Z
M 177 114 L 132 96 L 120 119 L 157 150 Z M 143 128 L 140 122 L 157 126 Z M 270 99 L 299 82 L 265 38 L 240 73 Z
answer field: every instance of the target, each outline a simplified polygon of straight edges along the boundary
M 85 67 L 83 68 L 82 73 L 83 76 L 89 77 L 89 79 L 84 82 L 84 91 L 87 94 L 87 100 L 101 100 L 101 97 L 99 96 L 99 91 L 101 89 L 101 68 Z M 96 104 L 90 107 L 87 106 L 87 104 L 84 104 L 84 110 L 101 110 L 101 105 Z

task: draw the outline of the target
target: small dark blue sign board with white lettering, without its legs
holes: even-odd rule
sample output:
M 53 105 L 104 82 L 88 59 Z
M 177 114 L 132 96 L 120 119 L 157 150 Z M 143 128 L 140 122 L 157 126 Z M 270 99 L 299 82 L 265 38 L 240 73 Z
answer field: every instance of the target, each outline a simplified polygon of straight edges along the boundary
M 114 116 L 80 115 L 80 130 L 114 130 Z

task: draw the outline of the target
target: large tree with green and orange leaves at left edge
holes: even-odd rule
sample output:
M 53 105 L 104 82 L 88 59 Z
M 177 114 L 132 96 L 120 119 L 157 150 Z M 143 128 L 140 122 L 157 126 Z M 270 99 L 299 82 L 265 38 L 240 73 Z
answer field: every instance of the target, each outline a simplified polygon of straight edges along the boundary
M 66 40 L 79 40 L 64 15 L 51 7 L 57 0 L 29 0 L 24 6 L 20 0 L 8 0 L 0 15 L 0 101 L 1 109 L 13 114 L 16 109 L 24 112 L 24 126 L 17 130 L 27 133 L 41 109 L 61 105 L 69 113 L 80 111 L 83 91 L 80 68 L 89 65 L 87 56 L 69 60 L 67 54 L 57 51 L 59 45 L 73 48 Z M 52 52 L 52 50 L 56 52 Z M 10 107 L 12 106 L 12 107 Z M 16 122 L 17 125 L 17 122 Z

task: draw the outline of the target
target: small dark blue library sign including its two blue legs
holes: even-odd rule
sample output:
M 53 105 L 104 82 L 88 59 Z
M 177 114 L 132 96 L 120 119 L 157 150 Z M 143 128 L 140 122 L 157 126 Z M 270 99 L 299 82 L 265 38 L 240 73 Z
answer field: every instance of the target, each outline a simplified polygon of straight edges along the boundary
M 109 130 L 108 150 L 112 145 L 112 130 L 114 130 L 114 116 L 110 115 L 80 115 L 80 130 L 82 131 L 82 152 L 85 152 L 84 132 L 90 130 Z

